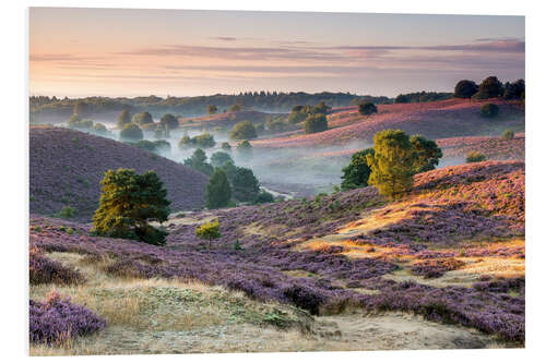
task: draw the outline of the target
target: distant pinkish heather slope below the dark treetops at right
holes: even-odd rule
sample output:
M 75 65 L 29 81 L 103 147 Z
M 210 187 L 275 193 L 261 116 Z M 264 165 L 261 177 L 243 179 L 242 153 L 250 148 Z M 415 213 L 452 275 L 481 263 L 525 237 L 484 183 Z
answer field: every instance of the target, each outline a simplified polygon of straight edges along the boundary
M 479 117 L 484 104 L 463 99 L 449 99 L 434 102 L 378 105 L 378 113 L 359 116 L 357 108 L 341 111 L 330 118 L 330 129 L 325 132 L 257 140 L 254 147 L 312 147 L 343 145 L 347 142 L 371 142 L 373 135 L 385 129 L 400 129 L 408 134 L 423 134 L 428 138 L 444 138 L 472 135 L 500 135 L 506 129 L 521 132 L 525 126 L 524 111 L 517 105 L 488 100 L 498 104 L 500 116 L 487 120 Z

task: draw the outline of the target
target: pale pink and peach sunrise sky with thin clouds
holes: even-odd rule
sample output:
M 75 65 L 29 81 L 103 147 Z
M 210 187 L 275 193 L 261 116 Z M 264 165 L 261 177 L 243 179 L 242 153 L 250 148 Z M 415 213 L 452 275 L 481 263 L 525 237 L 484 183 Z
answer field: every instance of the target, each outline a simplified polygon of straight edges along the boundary
M 31 8 L 29 93 L 396 96 L 525 75 L 523 16 Z

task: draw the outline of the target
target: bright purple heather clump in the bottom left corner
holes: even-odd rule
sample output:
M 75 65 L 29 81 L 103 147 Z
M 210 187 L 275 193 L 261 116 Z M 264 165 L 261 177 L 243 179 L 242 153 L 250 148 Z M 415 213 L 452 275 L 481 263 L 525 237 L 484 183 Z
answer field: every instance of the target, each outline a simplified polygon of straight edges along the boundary
M 70 299 L 52 291 L 46 301 L 31 300 L 31 342 L 59 344 L 78 336 L 94 334 L 106 327 L 106 320 Z

